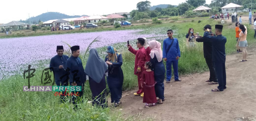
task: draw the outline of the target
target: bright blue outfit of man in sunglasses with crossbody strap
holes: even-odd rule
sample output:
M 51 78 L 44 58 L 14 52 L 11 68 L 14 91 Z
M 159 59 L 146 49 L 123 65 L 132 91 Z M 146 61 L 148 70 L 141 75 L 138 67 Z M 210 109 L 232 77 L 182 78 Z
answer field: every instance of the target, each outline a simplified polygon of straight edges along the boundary
M 174 41 L 172 43 L 172 41 Z M 171 45 L 171 48 L 169 51 L 167 50 L 169 46 Z M 168 52 L 166 52 L 168 51 Z M 178 74 L 178 60 L 176 60 L 176 57 L 180 57 L 180 46 L 177 38 L 166 38 L 163 40 L 163 58 L 167 58 L 166 61 L 166 80 L 170 81 L 172 78 L 172 66 L 174 70 L 174 79 L 177 81 L 179 79 Z

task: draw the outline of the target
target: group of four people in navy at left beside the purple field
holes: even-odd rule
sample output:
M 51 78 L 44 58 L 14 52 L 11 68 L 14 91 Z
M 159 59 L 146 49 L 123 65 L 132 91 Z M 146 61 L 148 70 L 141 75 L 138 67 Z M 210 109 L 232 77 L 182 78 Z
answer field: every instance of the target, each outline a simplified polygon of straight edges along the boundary
M 77 103 L 79 101 L 83 102 L 84 83 L 86 80 L 89 80 L 93 106 L 108 107 L 106 103 L 105 76 L 107 76 L 108 87 L 111 92 L 111 102 L 114 103 L 113 106 L 118 106 L 122 97 L 122 55 L 117 53 L 113 46 L 109 46 L 106 51 L 108 55 L 106 55 L 104 61 L 99 57 L 96 49 L 90 49 L 90 55 L 84 69 L 83 63 L 79 58 L 79 46 L 72 46 L 70 49 L 72 55 L 68 57 L 63 55 L 63 46 L 57 46 L 57 55 L 51 59 L 49 67 L 54 71 L 57 86 L 67 86 L 69 84 L 70 86 L 82 87 L 82 91 L 78 92 L 79 96 L 72 96 L 72 103 L 75 104 L 74 109 L 78 108 Z M 62 94 L 64 93 L 62 92 Z M 61 95 L 61 102 L 65 102 L 66 99 Z

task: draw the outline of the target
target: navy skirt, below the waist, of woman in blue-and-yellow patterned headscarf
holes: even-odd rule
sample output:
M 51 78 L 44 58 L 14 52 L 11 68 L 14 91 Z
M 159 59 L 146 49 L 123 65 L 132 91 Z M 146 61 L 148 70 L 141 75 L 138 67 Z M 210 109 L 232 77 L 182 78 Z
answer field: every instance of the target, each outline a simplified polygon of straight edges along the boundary
M 122 98 L 122 84 L 124 78 L 122 76 L 118 77 L 107 77 L 108 88 L 111 93 L 111 103 L 119 103 Z

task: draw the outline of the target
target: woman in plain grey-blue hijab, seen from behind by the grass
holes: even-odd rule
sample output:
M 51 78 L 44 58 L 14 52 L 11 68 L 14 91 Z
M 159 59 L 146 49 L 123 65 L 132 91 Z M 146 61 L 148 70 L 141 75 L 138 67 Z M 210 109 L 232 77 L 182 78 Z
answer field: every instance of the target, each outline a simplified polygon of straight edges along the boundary
M 90 49 L 84 72 L 89 76 L 89 84 L 92 92 L 93 106 L 108 107 L 106 104 L 106 80 L 105 72 L 108 64 L 99 57 L 96 49 Z

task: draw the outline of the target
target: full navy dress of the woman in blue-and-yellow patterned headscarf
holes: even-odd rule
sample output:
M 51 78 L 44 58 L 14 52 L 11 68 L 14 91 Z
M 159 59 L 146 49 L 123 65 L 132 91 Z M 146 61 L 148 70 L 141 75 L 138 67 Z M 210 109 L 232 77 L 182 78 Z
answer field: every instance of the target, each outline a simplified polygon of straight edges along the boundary
M 124 81 L 124 75 L 122 72 L 122 55 L 117 55 L 117 63 L 112 63 L 108 66 L 108 88 L 111 92 L 111 103 L 119 103 L 122 98 L 122 84 Z M 105 57 L 105 61 L 108 61 L 108 55 Z

